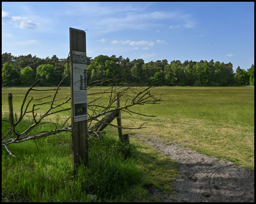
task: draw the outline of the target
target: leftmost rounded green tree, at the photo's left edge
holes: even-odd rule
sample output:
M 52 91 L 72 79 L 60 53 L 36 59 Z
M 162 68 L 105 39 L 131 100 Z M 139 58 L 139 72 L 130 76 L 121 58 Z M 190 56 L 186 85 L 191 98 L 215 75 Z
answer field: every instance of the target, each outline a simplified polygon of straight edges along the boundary
M 2 68 L 2 84 L 10 82 L 13 79 L 20 79 L 20 74 L 17 69 L 13 67 L 13 65 L 9 65 L 8 62 L 3 64 Z M 20 84 L 19 81 L 15 80 L 14 82 L 9 83 L 9 86 L 18 86 Z

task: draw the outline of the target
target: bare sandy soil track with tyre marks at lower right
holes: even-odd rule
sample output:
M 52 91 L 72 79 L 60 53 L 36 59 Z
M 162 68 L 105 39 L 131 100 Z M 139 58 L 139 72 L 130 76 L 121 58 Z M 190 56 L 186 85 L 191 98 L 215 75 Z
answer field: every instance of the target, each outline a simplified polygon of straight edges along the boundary
M 179 163 L 180 175 L 172 184 L 175 194 L 168 195 L 152 186 L 148 189 L 150 196 L 164 202 L 254 202 L 254 172 L 175 142 L 163 143 L 155 135 L 130 137 L 138 137 Z

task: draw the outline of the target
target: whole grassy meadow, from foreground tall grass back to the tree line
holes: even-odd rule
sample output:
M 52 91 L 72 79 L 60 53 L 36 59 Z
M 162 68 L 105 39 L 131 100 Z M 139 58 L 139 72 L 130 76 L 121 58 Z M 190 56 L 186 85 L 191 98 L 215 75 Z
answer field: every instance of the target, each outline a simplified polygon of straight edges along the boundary
M 104 88 L 106 87 L 91 88 L 88 94 Z M 2 118 L 7 118 L 8 114 L 7 93 L 13 94 L 14 112 L 18 117 L 26 91 L 27 88 L 2 90 Z M 123 129 L 123 134 L 144 134 L 148 135 L 148 139 L 150 135 L 155 135 L 164 142 L 176 141 L 202 154 L 225 158 L 254 171 L 254 87 L 155 87 L 150 92 L 156 97 L 162 95 L 163 101 L 154 105 L 137 105 L 130 110 L 157 117 L 122 112 L 124 128 L 139 127 L 147 122 L 142 129 Z M 32 91 L 27 101 L 31 97 L 39 99 L 51 95 L 48 99 L 32 101 L 43 103 L 50 100 L 53 94 L 54 91 Z M 65 98 L 69 94 L 70 88 L 61 88 L 57 99 Z M 88 102 L 96 97 L 97 95 L 90 95 Z M 108 104 L 108 101 L 108 96 L 104 96 L 98 103 Z M 121 107 L 125 101 L 125 98 L 121 98 Z M 68 107 L 70 103 L 64 105 L 64 108 Z M 43 114 L 47 109 L 47 105 L 44 105 L 37 112 Z M 92 114 L 90 111 L 88 113 Z M 70 114 L 66 111 L 53 115 L 48 120 L 61 124 Z M 30 124 L 31 115 L 28 114 L 25 119 L 18 127 L 20 130 Z M 116 124 L 115 120 L 113 124 Z M 43 127 L 44 130 L 51 128 L 54 129 L 55 126 Z M 2 135 L 7 129 L 8 124 L 2 122 Z M 125 159 L 118 153 L 122 145 L 118 142 L 117 130 L 109 126 L 106 131 L 102 137 L 114 147 L 111 148 L 113 154 L 106 156 L 110 147 L 92 138 L 92 152 L 96 152 L 90 155 L 92 168 L 81 167 L 81 175 L 78 177 L 71 173 L 70 133 L 39 139 L 36 145 L 35 141 L 10 145 L 9 149 L 17 159 L 11 158 L 2 147 L 4 201 L 24 201 L 27 197 L 35 202 L 89 202 L 90 198 L 87 196 L 93 193 L 99 195 L 96 201 L 127 202 L 134 201 L 134 198 L 139 201 L 156 201 L 147 196 L 146 189 L 150 185 L 172 193 L 170 183 L 177 175 L 177 164 L 174 161 L 135 137 L 130 139 L 130 145 L 126 147 L 130 156 Z M 104 158 L 104 155 L 107 159 L 98 159 Z M 98 169 L 102 171 L 99 172 Z M 121 180 L 122 184 L 114 182 L 113 176 L 119 178 L 117 180 Z M 113 188 L 110 184 L 116 186 Z

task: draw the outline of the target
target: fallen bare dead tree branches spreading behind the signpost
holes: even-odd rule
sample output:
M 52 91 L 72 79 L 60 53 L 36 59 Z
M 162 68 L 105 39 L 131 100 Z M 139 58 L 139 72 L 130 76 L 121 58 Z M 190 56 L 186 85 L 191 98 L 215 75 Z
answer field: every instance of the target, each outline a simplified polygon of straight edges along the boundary
M 60 89 L 61 83 L 63 83 L 63 81 L 65 79 L 67 79 L 68 76 L 69 75 L 65 76 L 65 78 L 63 78 L 63 80 L 61 80 L 61 82 L 59 83 L 57 88 L 52 88 L 50 90 L 39 90 L 37 88 L 35 89 L 34 88 L 35 85 L 38 83 L 41 83 L 40 81 L 42 79 L 37 80 L 34 84 L 32 84 L 32 86 L 30 88 L 28 88 L 28 90 L 24 96 L 22 105 L 20 107 L 20 115 L 19 115 L 18 120 L 16 120 L 16 122 L 2 120 L 3 122 L 10 122 L 10 124 L 11 124 L 11 128 L 7 131 L 7 133 L 2 135 L 2 146 L 4 146 L 6 148 L 6 151 L 9 152 L 9 154 L 11 156 L 14 156 L 14 154 L 7 148 L 7 146 L 10 144 L 20 143 L 20 142 L 29 141 L 29 140 L 35 141 L 35 139 L 48 137 L 49 135 L 72 131 L 71 124 L 65 126 L 65 124 L 67 124 L 67 122 L 68 122 L 69 118 L 71 118 L 71 116 L 69 116 L 67 119 L 65 119 L 63 124 L 60 125 L 59 128 L 58 128 L 57 123 L 47 122 L 47 118 L 49 116 L 52 116 L 54 114 L 61 113 L 61 112 L 66 112 L 66 111 L 70 112 L 71 111 L 71 108 L 63 107 L 64 104 L 67 104 L 68 101 L 71 100 L 70 95 L 68 95 L 64 98 L 61 98 L 61 99 L 56 99 L 57 94 L 59 94 L 58 91 L 61 90 Z M 95 124 L 95 122 L 102 122 L 102 124 L 106 124 L 106 125 L 113 126 L 115 128 L 122 128 L 122 129 L 144 128 L 143 125 L 146 123 L 144 123 L 142 125 L 138 125 L 137 128 L 127 128 L 125 126 L 119 127 L 117 125 L 113 125 L 108 122 L 101 121 L 99 119 L 99 117 L 105 116 L 106 114 L 114 112 L 114 111 L 116 112 L 118 110 L 127 112 L 129 114 L 134 113 L 134 114 L 139 114 L 141 116 L 146 116 L 146 117 L 156 117 L 156 116 L 148 116 L 146 114 L 133 112 L 133 111 L 130 111 L 129 108 L 133 107 L 134 105 L 159 104 L 159 102 L 162 101 L 162 95 L 160 95 L 159 99 L 156 98 L 155 96 L 150 94 L 150 88 L 156 87 L 156 85 L 158 83 L 162 82 L 163 78 L 162 78 L 162 80 L 160 80 L 160 82 L 152 84 L 151 86 L 149 86 L 147 88 L 143 88 L 143 87 L 133 86 L 133 85 L 123 86 L 122 84 L 118 84 L 119 76 L 122 76 L 122 74 L 118 74 L 117 76 L 114 76 L 112 79 L 96 80 L 88 85 L 88 90 L 89 90 L 92 87 L 102 86 L 105 83 L 110 84 L 110 87 L 105 88 L 105 90 L 102 90 L 102 91 L 96 92 L 96 93 L 92 93 L 92 94 L 88 94 L 88 96 L 89 95 L 94 96 L 94 97 L 96 96 L 95 99 L 93 99 L 91 97 L 91 100 L 88 101 L 88 109 L 90 110 L 90 113 L 88 113 L 88 128 L 90 125 Z M 6 83 L 6 84 L 8 84 L 8 83 Z M 4 84 L 3 86 L 6 86 L 6 84 Z M 41 84 L 43 84 L 43 83 L 41 83 Z M 126 83 L 126 84 L 129 84 L 129 83 Z M 49 84 L 47 84 L 47 85 L 49 86 Z M 55 91 L 55 94 L 53 94 L 51 100 L 48 100 L 43 103 L 32 104 L 33 103 L 32 101 L 40 101 L 43 99 L 48 99 L 51 96 L 45 96 L 45 97 L 41 97 L 39 99 L 33 99 L 33 97 L 31 97 L 31 99 L 27 101 L 28 95 L 31 93 L 31 91 Z M 117 107 L 115 105 L 115 101 L 116 101 L 115 95 L 117 93 L 119 93 L 119 96 L 122 97 L 122 99 L 125 99 L 125 105 L 123 105 L 122 107 Z M 102 95 L 102 96 L 98 96 L 98 95 Z M 104 95 L 107 95 L 109 97 L 108 103 L 106 103 L 106 104 L 103 104 L 102 102 L 98 103 L 98 100 L 99 99 L 102 100 L 102 97 Z M 89 99 L 89 97 L 88 97 L 88 99 Z M 43 107 L 43 105 L 48 105 L 49 108 L 43 114 L 40 114 L 40 117 L 38 117 L 38 110 L 40 108 L 36 108 L 36 107 Z M 29 107 L 31 107 L 31 106 L 32 106 L 32 108 L 29 109 Z M 22 122 L 22 120 L 24 120 L 24 116 L 26 116 L 26 114 L 30 114 L 30 116 L 32 114 L 32 122 L 30 125 L 28 125 L 26 127 L 26 130 L 23 130 L 22 133 L 19 133 L 17 130 L 18 129 L 17 126 L 20 124 L 20 122 Z M 38 133 L 33 133 L 35 131 L 32 131 L 32 130 L 34 130 L 35 128 L 37 128 L 38 126 L 43 125 L 43 124 L 52 124 L 55 126 L 55 129 L 52 129 L 49 131 L 40 131 Z M 99 132 L 102 132 L 102 131 L 96 131 L 94 129 L 88 130 L 88 134 L 93 134 L 93 135 L 96 135 L 97 137 L 100 137 L 98 135 Z

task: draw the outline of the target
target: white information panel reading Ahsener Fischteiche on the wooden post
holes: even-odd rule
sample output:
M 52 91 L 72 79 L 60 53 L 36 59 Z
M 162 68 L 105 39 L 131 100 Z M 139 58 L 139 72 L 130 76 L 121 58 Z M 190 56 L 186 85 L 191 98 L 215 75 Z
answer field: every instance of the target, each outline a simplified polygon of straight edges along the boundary
M 72 51 L 73 118 L 74 122 L 88 120 L 86 53 Z

